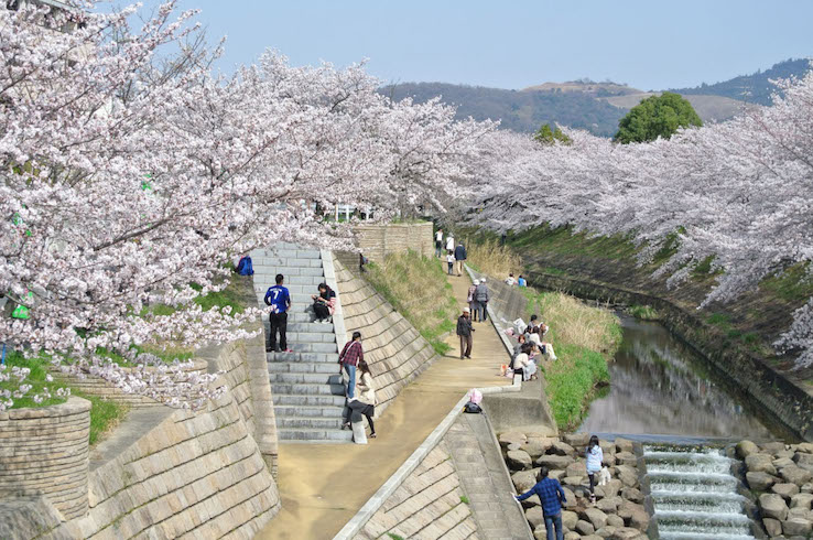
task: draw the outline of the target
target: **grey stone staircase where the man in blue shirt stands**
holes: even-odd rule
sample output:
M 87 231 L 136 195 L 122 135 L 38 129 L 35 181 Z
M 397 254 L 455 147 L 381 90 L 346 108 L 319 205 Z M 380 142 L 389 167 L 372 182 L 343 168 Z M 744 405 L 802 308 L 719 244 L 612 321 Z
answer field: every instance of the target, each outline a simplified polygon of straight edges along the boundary
M 251 259 L 254 292 L 261 307 L 265 307 L 265 291 L 275 284 L 278 273 L 285 277 L 284 284 L 291 292 L 288 347 L 293 353 L 267 354 L 278 439 L 283 442 L 349 442 L 353 433 L 342 431 L 345 398 L 335 327 L 312 322 L 313 313 L 308 309 L 317 285 L 328 281 L 319 250 L 277 244 L 254 250 Z M 268 332 L 268 317 L 264 323 Z

